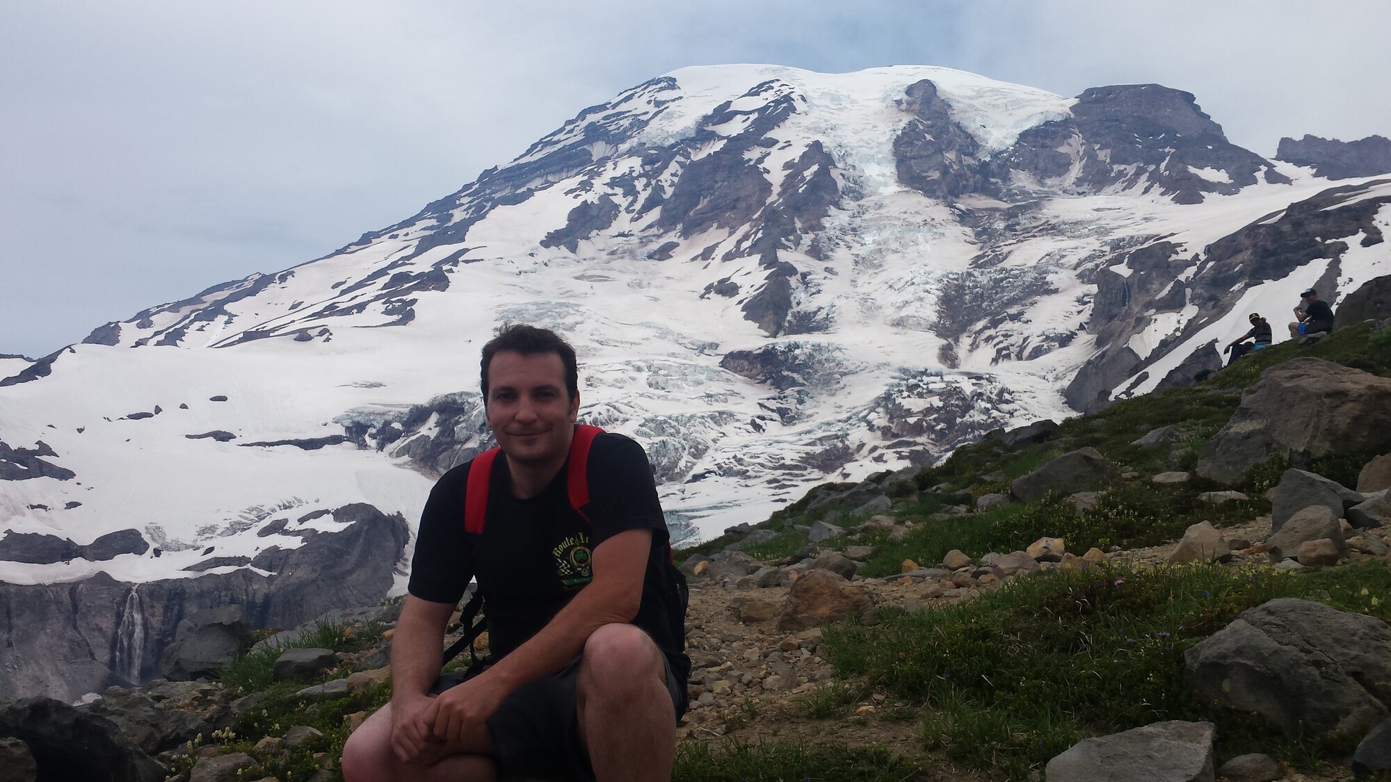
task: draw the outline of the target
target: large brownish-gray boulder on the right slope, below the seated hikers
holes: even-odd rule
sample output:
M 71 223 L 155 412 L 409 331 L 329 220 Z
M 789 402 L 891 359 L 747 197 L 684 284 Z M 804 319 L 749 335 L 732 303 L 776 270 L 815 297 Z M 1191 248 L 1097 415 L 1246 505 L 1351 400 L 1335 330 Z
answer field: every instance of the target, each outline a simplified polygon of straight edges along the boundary
M 1198 459 L 1198 474 L 1241 481 L 1271 456 L 1391 451 L 1391 378 L 1302 356 L 1262 373 Z

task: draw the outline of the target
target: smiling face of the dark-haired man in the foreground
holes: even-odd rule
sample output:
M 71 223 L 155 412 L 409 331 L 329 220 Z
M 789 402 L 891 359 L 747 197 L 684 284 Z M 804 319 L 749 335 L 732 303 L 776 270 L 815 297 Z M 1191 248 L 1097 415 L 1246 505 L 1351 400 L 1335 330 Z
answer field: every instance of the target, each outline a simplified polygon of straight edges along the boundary
M 566 395 L 559 353 L 502 351 L 488 363 L 488 426 L 509 461 L 563 462 L 579 412 L 579 394 Z

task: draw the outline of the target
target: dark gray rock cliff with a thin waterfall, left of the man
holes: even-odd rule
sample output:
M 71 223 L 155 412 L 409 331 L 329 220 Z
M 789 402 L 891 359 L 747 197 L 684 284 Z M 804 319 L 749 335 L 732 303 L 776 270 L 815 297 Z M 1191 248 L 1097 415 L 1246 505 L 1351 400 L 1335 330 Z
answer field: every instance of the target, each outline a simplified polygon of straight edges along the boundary
M 299 548 L 270 548 L 250 569 L 196 579 L 122 583 L 97 573 L 60 584 L 0 583 L 0 689 L 75 700 L 154 675 L 174 629 L 188 615 L 241 605 L 259 628 L 285 628 L 330 608 L 385 596 L 401 561 L 405 519 L 360 505 L 342 532 L 302 533 Z

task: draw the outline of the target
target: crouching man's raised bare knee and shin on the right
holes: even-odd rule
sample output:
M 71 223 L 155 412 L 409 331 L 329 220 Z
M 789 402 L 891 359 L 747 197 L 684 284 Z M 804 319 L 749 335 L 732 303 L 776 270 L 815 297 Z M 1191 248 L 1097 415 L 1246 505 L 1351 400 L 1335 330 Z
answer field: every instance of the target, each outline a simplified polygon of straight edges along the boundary
M 580 735 L 600 782 L 672 778 L 676 712 L 651 636 L 633 625 L 595 630 L 584 643 L 574 689 Z

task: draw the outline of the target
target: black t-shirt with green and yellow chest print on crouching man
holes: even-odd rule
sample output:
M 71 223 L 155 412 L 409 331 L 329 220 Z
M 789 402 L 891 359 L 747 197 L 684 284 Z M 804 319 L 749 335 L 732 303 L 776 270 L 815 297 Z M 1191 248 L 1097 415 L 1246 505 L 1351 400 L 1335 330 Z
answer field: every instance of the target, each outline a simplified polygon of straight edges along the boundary
M 690 660 L 675 637 L 679 611 L 669 575 L 668 533 L 647 454 L 622 434 L 605 433 L 590 447 L 590 522 L 570 508 L 566 469 L 536 497 L 517 500 L 505 458 L 492 462 L 483 534 L 463 530 L 469 468 L 445 473 L 430 491 L 410 565 L 410 594 L 459 603 L 477 577 L 488 618 L 488 648 L 509 654 L 544 628 L 590 583 L 591 552 L 615 534 L 652 530 L 643 600 L 633 625 L 657 641 L 684 690 Z

